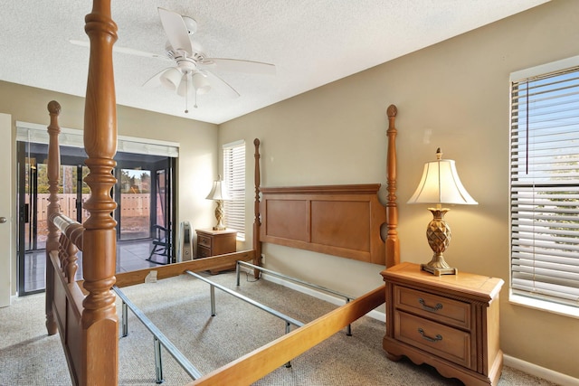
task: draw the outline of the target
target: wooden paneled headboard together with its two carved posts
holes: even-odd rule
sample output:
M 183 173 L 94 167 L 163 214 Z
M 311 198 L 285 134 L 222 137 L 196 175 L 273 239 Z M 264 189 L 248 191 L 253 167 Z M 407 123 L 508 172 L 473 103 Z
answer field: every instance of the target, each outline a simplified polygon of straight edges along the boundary
M 391 105 L 387 113 L 388 196 L 385 205 L 378 199 L 381 184 L 260 187 L 260 141 L 256 139 L 256 221 L 260 222 L 254 226 L 254 232 L 259 231 L 259 241 L 386 267 L 398 264 L 397 130 L 394 127 L 397 108 Z M 254 249 L 261 251 L 259 246 L 254 245 Z

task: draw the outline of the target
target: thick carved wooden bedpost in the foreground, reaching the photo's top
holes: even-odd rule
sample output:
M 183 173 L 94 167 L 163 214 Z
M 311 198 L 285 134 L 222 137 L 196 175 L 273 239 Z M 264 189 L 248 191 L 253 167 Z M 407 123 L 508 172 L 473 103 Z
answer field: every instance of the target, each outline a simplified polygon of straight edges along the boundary
M 85 182 L 90 198 L 84 208 L 90 217 L 84 222 L 82 248 L 83 301 L 81 384 L 117 384 L 119 378 L 119 320 L 115 295 L 117 222 L 112 217 L 116 202 L 110 190 L 116 183 L 111 174 L 116 163 L 117 110 L 112 66 L 112 47 L 117 41 L 117 24 L 110 14 L 110 0 L 94 0 L 92 13 L 85 17 L 90 38 L 89 76 L 84 111 L 84 147 L 90 169 Z

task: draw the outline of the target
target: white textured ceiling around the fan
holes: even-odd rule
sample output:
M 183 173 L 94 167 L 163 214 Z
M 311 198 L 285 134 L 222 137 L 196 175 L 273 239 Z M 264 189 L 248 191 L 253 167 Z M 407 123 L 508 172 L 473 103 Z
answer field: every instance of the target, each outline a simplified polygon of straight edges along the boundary
M 184 118 L 223 123 L 309 89 L 547 0 L 139 0 L 112 1 L 116 46 L 163 54 L 166 35 L 157 7 L 195 18 L 210 57 L 264 61 L 276 75 L 214 71 L 241 97 L 218 89 L 198 108 L 175 92 L 143 87 L 172 62 L 115 52 L 117 103 Z M 89 50 L 88 0 L 1 0 L 0 80 L 84 96 Z

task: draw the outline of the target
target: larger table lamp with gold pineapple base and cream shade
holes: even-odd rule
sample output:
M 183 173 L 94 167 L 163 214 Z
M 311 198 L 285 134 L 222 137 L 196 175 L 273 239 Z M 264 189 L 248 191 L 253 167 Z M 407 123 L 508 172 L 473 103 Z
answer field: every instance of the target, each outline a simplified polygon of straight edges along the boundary
M 450 204 L 477 204 L 464 186 L 460 183 L 459 174 L 456 172 L 454 161 L 441 159 L 441 149 L 436 150 L 436 161 L 427 162 L 424 165 L 422 179 L 408 203 L 434 203 L 435 208 L 428 208 L 432 212 L 433 219 L 426 229 L 426 238 L 434 254 L 428 264 L 421 264 L 422 270 L 436 276 L 454 275 L 457 268 L 451 268 L 442 252 L 451 243 L 451 227 L 444 221 L 444 214 L 450 209 L 442 208 L 443 203 Z

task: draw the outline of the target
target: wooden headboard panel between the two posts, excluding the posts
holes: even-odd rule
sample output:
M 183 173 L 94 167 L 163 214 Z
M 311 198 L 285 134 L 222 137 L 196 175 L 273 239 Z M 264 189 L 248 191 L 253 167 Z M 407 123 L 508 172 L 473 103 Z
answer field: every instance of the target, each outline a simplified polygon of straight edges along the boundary
M 385 264 L 380 184 L 261 188 L 261 241 Z M 282 219 L 282 221 L 279 221 Z

